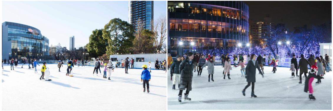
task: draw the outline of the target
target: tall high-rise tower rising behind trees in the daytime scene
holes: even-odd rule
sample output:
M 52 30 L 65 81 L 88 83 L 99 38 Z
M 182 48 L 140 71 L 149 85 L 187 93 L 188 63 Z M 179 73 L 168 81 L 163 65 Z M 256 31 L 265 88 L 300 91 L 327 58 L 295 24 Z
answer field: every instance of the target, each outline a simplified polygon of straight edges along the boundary
M 154 1 L 129 1 L 128 2 L 129 23 L 135 24 L 136 20 L 145 21 L 144 29 L 152 30 L 154 18 Z

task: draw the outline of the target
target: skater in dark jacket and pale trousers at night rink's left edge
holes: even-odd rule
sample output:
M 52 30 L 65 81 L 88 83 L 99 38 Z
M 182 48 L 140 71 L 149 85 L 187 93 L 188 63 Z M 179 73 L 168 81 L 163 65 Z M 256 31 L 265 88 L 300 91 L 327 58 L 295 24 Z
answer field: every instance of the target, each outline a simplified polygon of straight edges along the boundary
M 174 60 L 170 66 L 170 76 L 172 81 L 172 90 L 175 90 L 176 82 L 178 83 L 178 89 L 179 89 L 179 79 L 180 79 L 180 72 L 179 72 L 179 64 L 180 64 L 180 55 L 177 55 L 177 60 Z

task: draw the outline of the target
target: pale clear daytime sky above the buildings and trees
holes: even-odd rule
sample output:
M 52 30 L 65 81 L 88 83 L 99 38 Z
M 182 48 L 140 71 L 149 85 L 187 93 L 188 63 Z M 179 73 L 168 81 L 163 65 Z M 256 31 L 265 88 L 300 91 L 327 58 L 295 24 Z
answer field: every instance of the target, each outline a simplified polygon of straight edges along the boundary
M 154 18 L 161 14 L 166 15 L 166 1 L 154 1 Z M 60 43 L 69 49 L 71 36 L 76 48 L 83 47 L 93 30 L 114 18 L 128 22 L 128 1 L 2 1 L 2 23 L 35 27 L 49 38 L 50 47 Z

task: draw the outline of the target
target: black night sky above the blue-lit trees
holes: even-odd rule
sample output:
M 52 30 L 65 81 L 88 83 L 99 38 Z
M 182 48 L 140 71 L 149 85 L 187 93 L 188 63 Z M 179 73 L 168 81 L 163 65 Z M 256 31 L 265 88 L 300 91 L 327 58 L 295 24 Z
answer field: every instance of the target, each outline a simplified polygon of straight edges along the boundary
M 243 1 L 249 6 L 249 19 L 263 21 L 266 14 L 272 22 L 284 23 L 289 30 L 307 25 L 317 26 L 332 21 L 332 1 Z M 283 22 L 281 22 L 283 19 Z

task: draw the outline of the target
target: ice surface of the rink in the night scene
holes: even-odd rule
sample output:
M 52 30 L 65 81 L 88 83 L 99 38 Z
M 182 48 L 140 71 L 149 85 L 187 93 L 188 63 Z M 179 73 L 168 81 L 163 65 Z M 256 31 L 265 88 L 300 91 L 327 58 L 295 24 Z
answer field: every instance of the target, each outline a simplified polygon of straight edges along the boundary
M 240 66 L 232 67 L 230 80 L 223 79 L 223 67 L 215 65 L 214 82 L 208 82 L 207 66 L 203 68 L 201 77 L 193 72 L 192 91 L 188 97 L 192 102 L 178 102 L 178 85 L 172 89 L 170 72 L 168 71 L 168 110 L 331 110 L 332 109 L 332 72 L 326 72 L 321 84 L 316 84 L 314 79 L 312 86 L 316 100 L 309 100 L 309 93 L 304 92 L 305 78 L 299 84 L 298 78 L 290 78 L 290 68 L 277 67 L 276 73 L 271 72 L 273 67 L 264 66 L 264 78 L 256 74 L 254 94 L 251 98 L 251 86 L 242 95 L 242 90 L 247 85 L 245 77 L 241 77 Z M 299 73 L 299 72 L 298 72 Z M 185 91 L 183 91 L 184 93 Z

